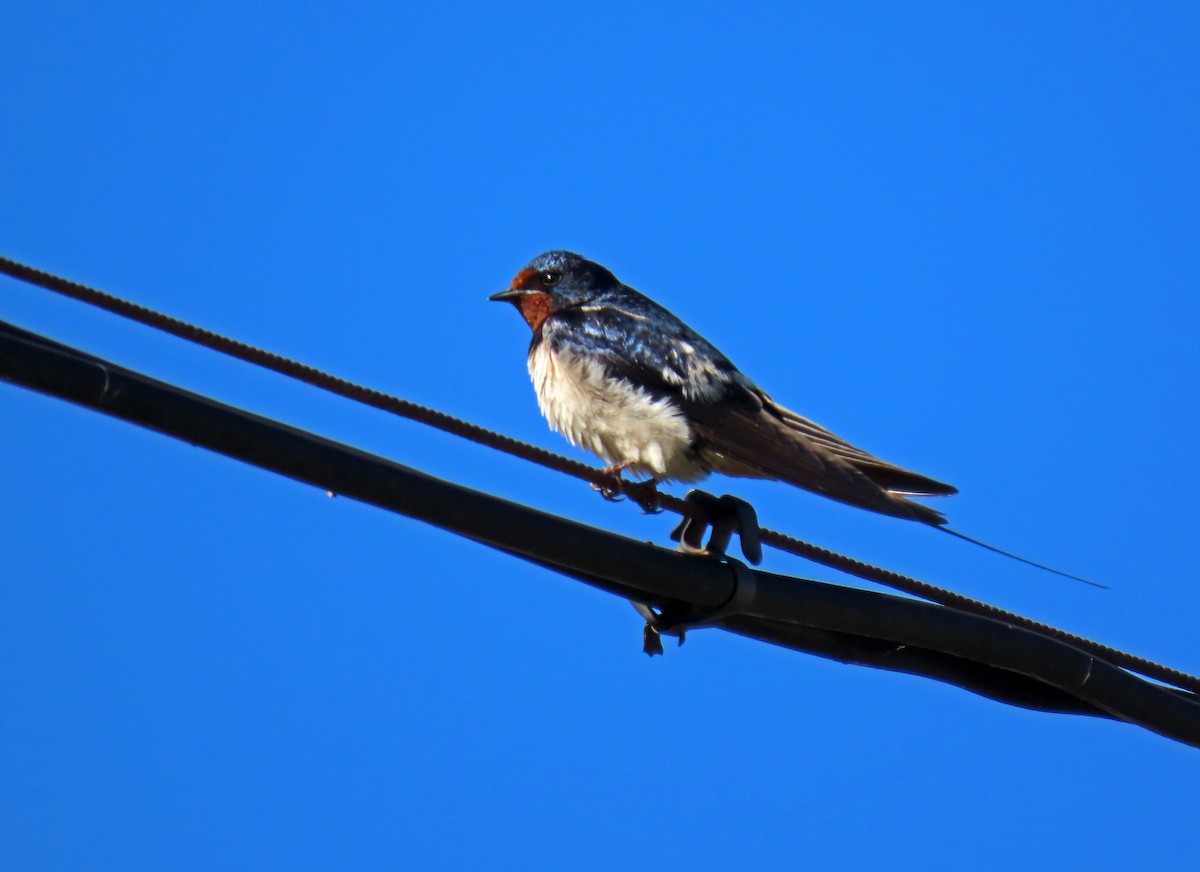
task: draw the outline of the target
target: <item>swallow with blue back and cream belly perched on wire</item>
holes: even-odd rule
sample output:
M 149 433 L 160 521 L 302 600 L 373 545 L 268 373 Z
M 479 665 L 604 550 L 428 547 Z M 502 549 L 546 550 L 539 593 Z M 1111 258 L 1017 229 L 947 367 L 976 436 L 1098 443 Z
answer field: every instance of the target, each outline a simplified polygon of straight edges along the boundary
M 946 523 L 908 498 L 956 488 L 881 461 L 784 408 L 704 337 L 600 264 L 550 251 L 490 299 L 514 303 L 533 329 L 529 375 L 550 426 L 604 458 L 614 475 L 773 479 L 883 515 Z

